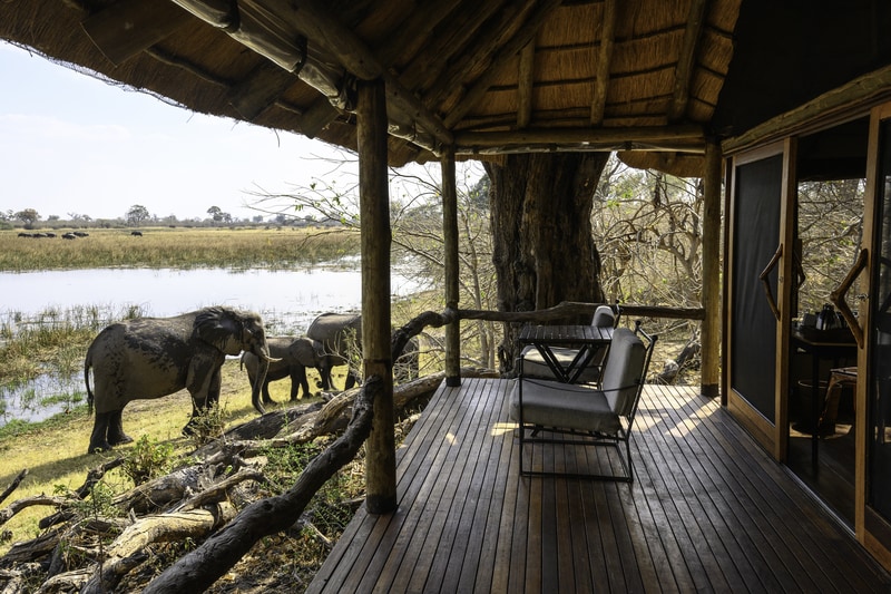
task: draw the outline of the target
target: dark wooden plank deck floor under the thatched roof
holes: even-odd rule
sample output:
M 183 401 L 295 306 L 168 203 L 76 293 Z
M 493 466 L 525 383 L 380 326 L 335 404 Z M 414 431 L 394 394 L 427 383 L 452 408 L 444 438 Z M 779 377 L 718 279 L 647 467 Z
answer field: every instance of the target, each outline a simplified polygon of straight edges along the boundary
M 399 451 L 398 512 L 360 509 L 310 592 L 891 591 L 716 401 L 647 386 L 631 485 L 519 478 L 511 388 L 439 389 Z M 544 466 L 611 464 L 539 448 Z

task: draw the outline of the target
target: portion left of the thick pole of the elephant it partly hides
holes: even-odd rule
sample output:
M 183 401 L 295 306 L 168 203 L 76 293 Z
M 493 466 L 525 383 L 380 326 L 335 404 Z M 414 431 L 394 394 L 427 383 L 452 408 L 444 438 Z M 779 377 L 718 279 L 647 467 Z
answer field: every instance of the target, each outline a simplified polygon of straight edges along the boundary
M 322 358 L 319 373 L 322 376 L 322 389 L 332 388 L 331 369 L 349 366 L 350 352 L 362 352 L 362 315 L 359 313 L 322 313 L 315 318 L 306 330 L 306 338 L 322 345 Z M 358 378 L 352 367 L 346 371 L 345 389 L 356 384 Z

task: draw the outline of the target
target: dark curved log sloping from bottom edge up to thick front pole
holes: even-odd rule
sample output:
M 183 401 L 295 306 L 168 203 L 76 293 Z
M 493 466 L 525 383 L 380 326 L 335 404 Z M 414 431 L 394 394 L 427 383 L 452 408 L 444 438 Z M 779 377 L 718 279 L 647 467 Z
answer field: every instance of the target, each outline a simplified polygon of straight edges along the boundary
M 322 485 L 352 461 L 368 438 L 372 403 L 382 390 L 383 380 L 376 376 L 369 377 L 355 400 L 353 418 L 346 430 L 306 466 L 291 489 L 247 506 L 223 529 L 151 581 L 144 593 L 202 592 L 234 566 L 257 541 L 293 525 Z

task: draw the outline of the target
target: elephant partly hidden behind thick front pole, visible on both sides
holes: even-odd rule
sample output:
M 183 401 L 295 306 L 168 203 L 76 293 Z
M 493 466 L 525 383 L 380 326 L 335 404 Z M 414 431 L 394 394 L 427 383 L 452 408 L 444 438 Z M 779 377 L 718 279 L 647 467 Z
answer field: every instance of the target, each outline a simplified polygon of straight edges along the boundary
M 362 350 L 362 315 L 358 313 L 322 313 L 316 317 L 306 331 L 307 338 L 322 344 L 323 354 L 319 367 L 322 376 L 321 388 L 332 388 L 331 369 L 349 364 L 349 350 L 354 345 Z M 403 354 L 393 366 L 394 379 L 404 382 L 418 378 L 418 337 L 412 337 L 405 344 Z M 355 386 L 358 378 L 352 368 L 346 372 L 345 389 Z

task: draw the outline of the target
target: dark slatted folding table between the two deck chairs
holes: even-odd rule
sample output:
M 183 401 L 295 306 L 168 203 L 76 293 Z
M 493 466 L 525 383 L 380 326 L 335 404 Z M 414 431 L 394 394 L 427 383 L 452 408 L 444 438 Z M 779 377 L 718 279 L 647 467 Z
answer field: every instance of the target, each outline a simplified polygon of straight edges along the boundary
M 526 325 L 520 330 L 518 340 L 520 344 L 531 344 L 538 349 L 555 378 L 564 383 L 575 383 L 597 351 L 609 345 L 613 327 Z M 562 364 L 554 354 L 554 347 L 578 349 L 578 352 L 569 363 Z

